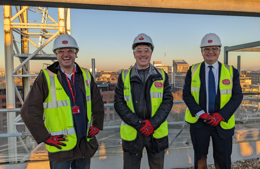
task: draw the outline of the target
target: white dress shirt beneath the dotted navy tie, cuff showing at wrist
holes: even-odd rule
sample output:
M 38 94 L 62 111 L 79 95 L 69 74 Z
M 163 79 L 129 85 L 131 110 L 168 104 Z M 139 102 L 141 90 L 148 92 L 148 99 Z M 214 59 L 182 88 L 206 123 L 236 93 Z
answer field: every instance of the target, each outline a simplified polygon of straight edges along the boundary
M 209 64 L 207 64 L 205 62 L 205 80 L 206 80 L 206 95 L 207 95 L 207 113 L 209 112 L 209 71 L 210 68 L 208 67 L 210 66 Z M 212 64 L 213 68 L 212 68 L 212 72 L 214 74 L 215 77 L 215 88 L 216 88 L 216 94 L 217 94 L 217 90 L 218 90 L 218 61 L 216 61 L 214 64 Z M 204 110 L 199 111 L 197 114 L 195 114 L 195 116 L 197 118 L 200 118 L 200 115 L 202 115 L 203 113 L 205 113 Z

